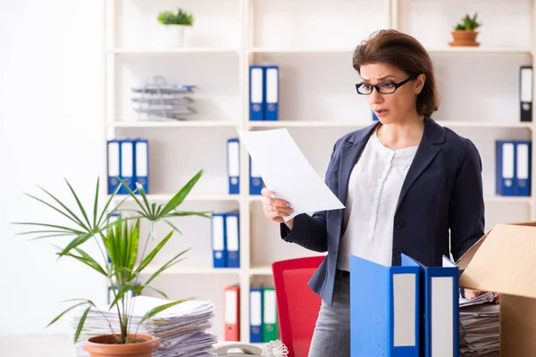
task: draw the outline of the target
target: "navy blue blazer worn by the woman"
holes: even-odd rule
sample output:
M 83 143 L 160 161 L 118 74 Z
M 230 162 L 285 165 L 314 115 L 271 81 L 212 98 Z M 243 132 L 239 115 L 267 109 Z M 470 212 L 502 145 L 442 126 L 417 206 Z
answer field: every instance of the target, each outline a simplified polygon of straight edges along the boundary
M 340 137 L 325 182 L 346 204 L 350 172 L 379 123 Z M 281 237 L 315 252 L 328 252 L 309 286 L 332 303 L 344 209 L 303 213 Z M 477 148 L 454 131 L 425 119 L 421 143 L 398 197 L 393 225 L 392 264 L 405 253 L 427 266 L 440 266 L 450 244 L 457 261 L 484 234 L 482 161 Z

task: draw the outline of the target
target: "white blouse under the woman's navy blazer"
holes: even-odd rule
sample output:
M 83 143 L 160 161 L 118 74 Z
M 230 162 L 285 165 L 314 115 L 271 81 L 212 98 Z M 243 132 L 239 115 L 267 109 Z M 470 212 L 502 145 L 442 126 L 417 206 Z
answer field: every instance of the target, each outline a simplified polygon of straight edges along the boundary
M 398 196 L 418 146 L 391 150 L 374 130 L 348 183 L 337 268 L 350 270 L 350 255 L 391 265 Z

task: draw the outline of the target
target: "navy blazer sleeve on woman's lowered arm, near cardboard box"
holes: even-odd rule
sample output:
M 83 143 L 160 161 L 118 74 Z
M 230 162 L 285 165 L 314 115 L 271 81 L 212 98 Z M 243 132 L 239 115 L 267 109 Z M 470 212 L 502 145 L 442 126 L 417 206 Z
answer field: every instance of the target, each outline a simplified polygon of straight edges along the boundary
M 455 262 L 484 235 L 482 160 L 465 139 L 450 200 L 450 243 Z

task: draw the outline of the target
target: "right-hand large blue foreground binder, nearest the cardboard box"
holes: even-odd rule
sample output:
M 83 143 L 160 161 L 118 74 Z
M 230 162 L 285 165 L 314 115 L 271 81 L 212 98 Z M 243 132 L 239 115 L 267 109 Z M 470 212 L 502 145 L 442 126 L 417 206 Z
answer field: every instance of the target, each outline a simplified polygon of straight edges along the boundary
M 443 256 L 441 267 L 425 267 L 403 256 L 402 263 L 421 268 L 423 356 L 459 356 L 459 269 Z

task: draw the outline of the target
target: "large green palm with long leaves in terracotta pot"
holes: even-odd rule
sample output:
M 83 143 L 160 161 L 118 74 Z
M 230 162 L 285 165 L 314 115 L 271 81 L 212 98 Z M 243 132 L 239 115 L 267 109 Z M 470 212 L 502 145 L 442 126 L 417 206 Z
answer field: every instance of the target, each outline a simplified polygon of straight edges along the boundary
M 180 191 L 165 204 L 149 203 L 147 195 L 142 187 L 132 191 L 124 182 L 121 185 L 126 187 L 129 195 L 122 197 L 121 201 L 115 207 L 112 206 L 113 197 L 121 187 L 117 187 L 113 194 L 110 195 L 102 210 L 99 209 L 99 180 L 96 181 L 95 201 L 91 211 L 84 208 L 80 202 L 79 195 L 67 182 L 71 191 L 72 198 L 76 203 L 80 212 L 72 210 L 67 203 L 63 203 L 55 195 L 52 195 L 46 189 L 41 188 L 50 198 L 49 201 L 38 198 L 34 195 L 29 197 L 37 200 L 39 203 L 45 204 L 48 208 L 60 214 L 61 219 L 71 223 L 69 226 L 63 226 L 62 223 L 56 222 L 19 222 L 23 226 L 28 226 L 29 231 L 23 232 L 23 235 L 38 235 L 38 238 L 45 237 L 70 237 L 70 242 L 65 247 L 54 245 L 57 249 L 57 255 L 60 258 L 71 257 L 82 264 L 88 266 L 92 270 L 96 270 L 103 275 L 110 286 L 114 286 L 113 302 L 110 304 L 110 311 L 117 311 L 117 318 L 121 330 L 113 331 L 112 325 L 111 334 L 94 336 L 84 341 L 83 348 L 90 353 L 91 356 L 125 356 L 136 355 L 138 357 L 150 357 L 153 351 L 160 345 L 154 336 L 138 334 L 137 330 L 131 330 L 132 311 L 131 295 L 139 295 L 143 289 L 152 289 L 156 293 L 167 296 L 160 290 L 155 289 L 149 284 L 164 270 L 175 265 L 182 260 L 182 256 L 186 251 L 177 253 L 170 261 L 165 262 L 160 267 L 156 267 L 155 273 L 150 274 L 147 280 L 143 280 L 141 275 L 147 268 L 149 263 L 153 261 L 155 255 L 160 252 L 166 243 L 172 238 L 173 232 L 178 229 L 173 225 L 170 219 L 184 216 L 201 216 L 210 218 L 209 212 L 182 212 L 178 210 L 180 203 L 184 201 L 192 187 L 201 178 L 203 170 L 188 181 L 188 183 L 180 189 Z M 109 218 L 113 214 L 120 213 L 121 204 L 128 198 L 132 198 L 137 203 L 137 208 L 133 210 L 122 210 L 129 212 L 130 217 L 121 218 L 110 222 Z M 121 214 L 121 213 L 120 213 Z M 147 241 L 144 243 L 143 249 L 139 249 L 139 226 L 140 220 L 147 220 L 149 223 L 148 240 L 155 240 L 155 223 L 164 221 L 171 227 L 170 233 L 163 239 L 156 242 L 155 248 L 147 253 Z M 71 239 L 72 238 L 72 239 Z M 94 240 L 99 247 L 99 253 L 93 256 L 84 250 L 83 244 L 89 240 Z M 142 239 L 143 240 L 143 239 Z M 140 256 L 138 256 L 140 254 Z M 154 264 L 152 264 L 154 265 Z M 176 304 L 183 303 L 189 299 L 172 301 L 162 306 L 158 306 L 151 311 L 147 311 L 146 315 L 138 322 L 138 327 L 146 320 L 155 316 L 158 312 L 170 308 Z M 98 311 L 96 304 L 87 299 L 77 299 L 75 303 L 52 320 L 48 326 L 60 320 L 67 312 L 73 309 L 85 309 L 81 315 L 80 323 L 74 334 L 74 343 L 80 338 L 80 333 L 84 327 L 84 323 L 88 313 L 93 309 Z

